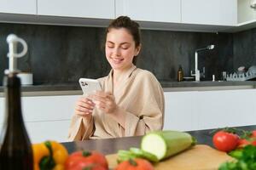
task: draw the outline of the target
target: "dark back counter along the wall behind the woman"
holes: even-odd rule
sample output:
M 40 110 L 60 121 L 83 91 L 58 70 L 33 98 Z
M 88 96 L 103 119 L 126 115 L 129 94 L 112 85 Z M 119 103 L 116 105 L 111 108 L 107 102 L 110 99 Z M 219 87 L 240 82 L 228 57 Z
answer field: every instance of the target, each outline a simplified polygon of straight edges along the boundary
M 228 89 L 256 88 L 256 81 L 246 82 L 166 82 L 160 81 L 165 92 L 175 91 L 209 91 Z M 22 87 L 22 95 L 80 95 L 82 94 L 78 82 L 73 83 L 45 83 L 40 85 L 28 85 Z M 0 97 L 3 96 L 3 86 L 0 86 Z

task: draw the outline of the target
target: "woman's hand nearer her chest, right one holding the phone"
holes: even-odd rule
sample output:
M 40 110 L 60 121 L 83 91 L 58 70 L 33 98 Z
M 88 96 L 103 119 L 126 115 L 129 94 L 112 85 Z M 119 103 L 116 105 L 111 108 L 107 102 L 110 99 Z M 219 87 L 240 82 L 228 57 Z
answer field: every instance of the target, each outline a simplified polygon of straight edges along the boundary
M 118 108 L 116 105 L 113 94 L 109 92 L 96 91 L 96 94 L 90 96 L 96 106 L 102 111 L 111 114 Z

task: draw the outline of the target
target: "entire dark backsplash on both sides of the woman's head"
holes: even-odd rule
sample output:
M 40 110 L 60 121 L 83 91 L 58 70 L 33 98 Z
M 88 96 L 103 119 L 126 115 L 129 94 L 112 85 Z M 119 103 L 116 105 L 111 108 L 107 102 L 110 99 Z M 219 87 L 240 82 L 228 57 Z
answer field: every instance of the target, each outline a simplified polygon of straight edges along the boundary
M 78 82 L 79 77 L 103 77 L 110 66 L 102 48 L 104 28 L 0 24 L 0 79 L 8 67 L 6 37 L 15 33 L 26 40 L 28 53 L 19 59 L 21 71 L 32 71 L 35 84 Z M 178 65 L 184 76 L 195 69 L 195 49 L 215 44 L 199 53 L 199 68 L 206 80 L 240 65 L 256 65 L 256 29 L 232 33 L 143 30 L 143 48 L 137 66 L 160 80 L 175 81 Z

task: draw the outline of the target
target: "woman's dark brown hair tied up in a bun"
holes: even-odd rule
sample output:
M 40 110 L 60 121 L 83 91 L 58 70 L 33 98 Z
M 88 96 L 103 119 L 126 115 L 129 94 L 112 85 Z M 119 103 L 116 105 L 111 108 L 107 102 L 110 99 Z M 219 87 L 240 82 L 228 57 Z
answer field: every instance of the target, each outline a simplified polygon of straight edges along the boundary
M 139 47 L 141 45 L 141 31 L 139 29 L 139 24 L 135 22 L 134 20 L 131 20 L 128 16 L 119 16 L 117 19 L 113 20 L 109 26 L 106 29 L 106 36 L 108 32 L 114 28 L 125 28 L 131 36 L 133 37 L 133 40 L 135 42 L 135 47 Z M 134 56 L 132 63 L 136 65 L 137 56 Z

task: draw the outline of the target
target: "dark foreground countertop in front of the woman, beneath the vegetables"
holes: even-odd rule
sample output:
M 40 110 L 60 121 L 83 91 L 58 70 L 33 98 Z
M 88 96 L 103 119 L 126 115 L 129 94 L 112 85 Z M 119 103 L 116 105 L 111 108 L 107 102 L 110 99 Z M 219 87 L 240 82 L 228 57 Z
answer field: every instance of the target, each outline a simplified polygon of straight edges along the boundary
M 239 127 L 244 130 L 254 130 L 256 125 Z M 207 144 L 212 146 L 212 129 L 189 131 L 197 139 L 197 144 Z M 140 147 L 142 136 L 125 137 L 117 139 L 91 139 L 78 142 L 63 143 L 68 152 L 75 150 L 97 150 L 105 155 L 116 153 L 118 150 L 128 150 L 131 147 Z

